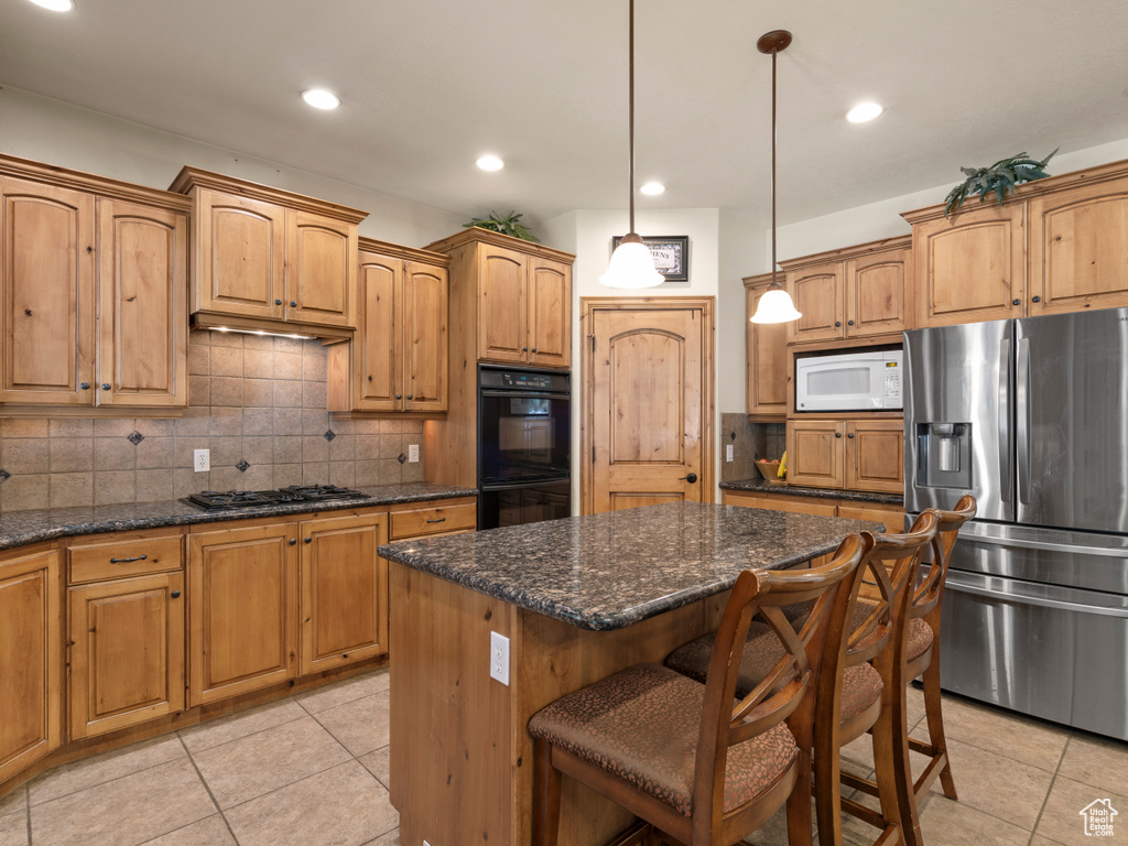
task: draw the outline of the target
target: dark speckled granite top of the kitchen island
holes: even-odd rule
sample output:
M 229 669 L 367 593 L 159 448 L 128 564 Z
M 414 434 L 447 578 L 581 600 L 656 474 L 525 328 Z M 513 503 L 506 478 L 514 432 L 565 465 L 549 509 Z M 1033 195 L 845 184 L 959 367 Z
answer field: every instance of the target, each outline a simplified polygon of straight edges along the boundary
M 881 523 L 679 502 L 405 540 L 380 555 L 580 628 L 623 628 Z

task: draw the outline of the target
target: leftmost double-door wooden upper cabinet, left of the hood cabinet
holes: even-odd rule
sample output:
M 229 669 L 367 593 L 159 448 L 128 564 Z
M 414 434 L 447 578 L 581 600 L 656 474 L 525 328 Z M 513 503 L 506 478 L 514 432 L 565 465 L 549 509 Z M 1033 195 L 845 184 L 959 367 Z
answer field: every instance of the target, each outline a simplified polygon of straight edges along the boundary
M 0 403 L 187 405 L 185 197 L 0 157 Z

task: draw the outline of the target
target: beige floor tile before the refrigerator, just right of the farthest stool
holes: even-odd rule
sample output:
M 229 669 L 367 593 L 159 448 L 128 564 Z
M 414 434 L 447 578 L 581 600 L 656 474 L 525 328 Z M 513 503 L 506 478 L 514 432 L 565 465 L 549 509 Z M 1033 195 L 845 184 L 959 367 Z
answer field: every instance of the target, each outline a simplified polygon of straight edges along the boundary
M 910 733 L 914 738 L 928 740 L 926 723 L 920 723 Z M 989 705 L 951 698 L 944 699 L 944 733 L 949 740 L 959 740 L 1050 773 L 1057 770 L 1069 737 L 1065 729 Z

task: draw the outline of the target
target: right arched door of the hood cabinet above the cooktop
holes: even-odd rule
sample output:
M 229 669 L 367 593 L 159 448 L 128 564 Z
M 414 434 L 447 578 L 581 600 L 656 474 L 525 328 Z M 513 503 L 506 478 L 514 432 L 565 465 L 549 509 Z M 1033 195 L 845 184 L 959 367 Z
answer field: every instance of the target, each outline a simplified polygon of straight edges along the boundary
M 285 319 L 356 326 L 356 226 L 287 212 Z

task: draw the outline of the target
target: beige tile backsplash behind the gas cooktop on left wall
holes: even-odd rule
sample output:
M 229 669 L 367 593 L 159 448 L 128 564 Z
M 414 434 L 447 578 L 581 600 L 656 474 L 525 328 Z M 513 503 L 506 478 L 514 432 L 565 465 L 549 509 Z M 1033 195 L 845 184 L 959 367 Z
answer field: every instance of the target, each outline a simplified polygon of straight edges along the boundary
M 0 511 L 423 479 L 421 421 L 331 420 L 318 341 L 192 332 L 188 373 L 176 420 L 0 420 Z M 420 461 L 400 462 L 413 443 Z M 196 449 L 210 472 L 192 469 Z

